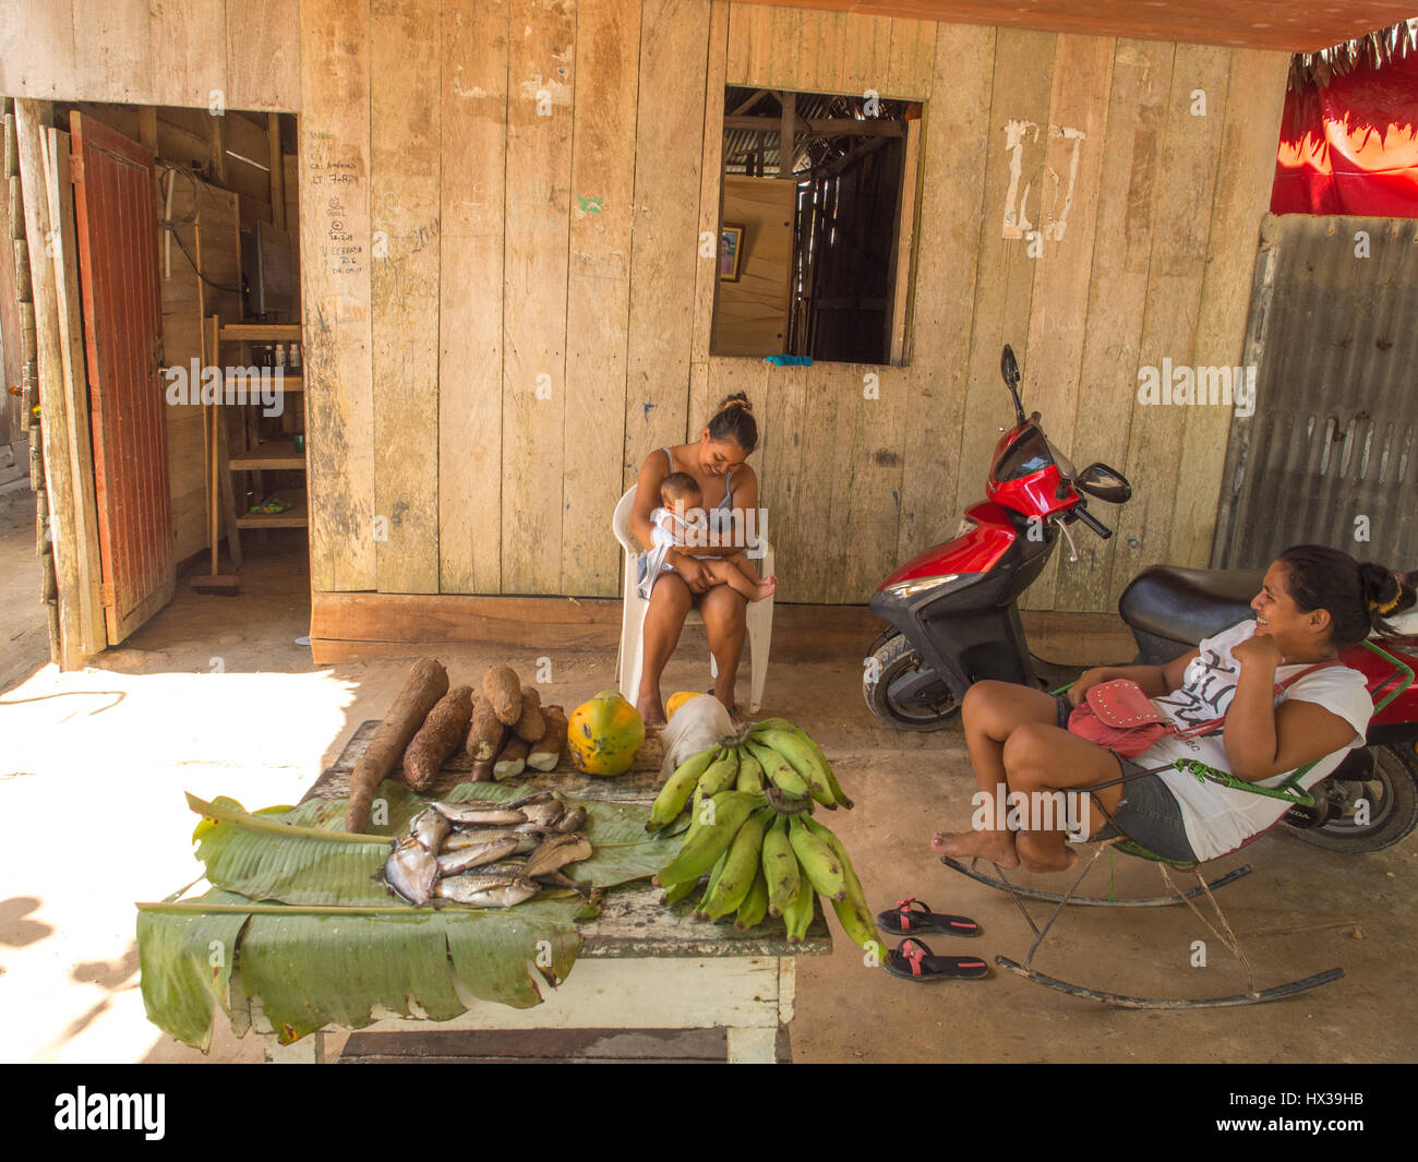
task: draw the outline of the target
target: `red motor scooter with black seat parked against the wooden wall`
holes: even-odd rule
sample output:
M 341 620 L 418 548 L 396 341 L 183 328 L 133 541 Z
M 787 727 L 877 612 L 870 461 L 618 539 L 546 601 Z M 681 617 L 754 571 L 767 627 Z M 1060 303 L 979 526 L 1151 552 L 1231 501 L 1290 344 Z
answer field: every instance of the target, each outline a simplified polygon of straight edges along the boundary
M 987 499 L 966 509 L 953 541 L 908 560 L 871 599 L 871 610 L 888 629 L 872 643 L 864 694 L 872 714 L 902 729 L 946 726 L 959 716 L 966 690 L 984 678 L 1056 690 L 1085 668 L 1029 651 L 1018 597 L 1044 572 L 1061 536 L 1072 549 L 1073 525 L 1112 536 L 1089 512 L 1085 497 L 1122 504 L 1132 497 L 1132 485 L 1106 464 L 1076 471 L 1049 444 L 1039 413 L 1025 417 L 1020 366 L 1008 346 L 1000 370 L 1015 426 L 995 446 Z M 1249 603 L 1262 576 L 1255 570 L 1146 569 L 1117 603 L 1137 643 L 1132 664 L 1160 665 L 1252 617 Z M 1418 624 L 1401 629 L 1409 633 L 1384 641 L 1384 648 L 1418 668 Z M 1371 680 L 1392 670 L 1361 646 L 1341 658 Z M 1319 807 L 1290 812 L 1286 823 L 1322 847 L 1374 851 L 1397 843 L 1418 824 L 1415 742 L 1418 687 L 1411 685 L 1375 714 L 1370 745 L 1350 752 L 1316 787 Z

